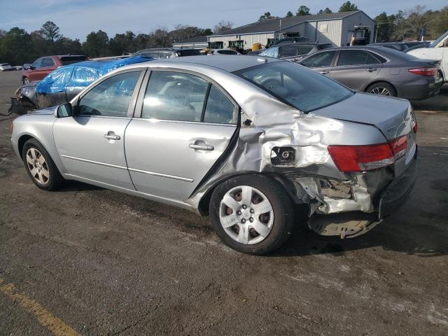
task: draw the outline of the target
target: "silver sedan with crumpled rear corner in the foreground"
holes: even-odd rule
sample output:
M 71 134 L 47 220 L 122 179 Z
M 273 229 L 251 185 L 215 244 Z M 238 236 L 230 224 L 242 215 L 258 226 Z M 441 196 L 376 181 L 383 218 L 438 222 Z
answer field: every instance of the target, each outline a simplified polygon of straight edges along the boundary
M 176 57 L 125 66 L 71 103 L 20 116 L 31 180 L 91 183 L 211 216 L 223 242 L 265 254 L 297 211 L 321 235 L 367 232 L 416 179 L 404 99 L 353 92 L 269 57 Z

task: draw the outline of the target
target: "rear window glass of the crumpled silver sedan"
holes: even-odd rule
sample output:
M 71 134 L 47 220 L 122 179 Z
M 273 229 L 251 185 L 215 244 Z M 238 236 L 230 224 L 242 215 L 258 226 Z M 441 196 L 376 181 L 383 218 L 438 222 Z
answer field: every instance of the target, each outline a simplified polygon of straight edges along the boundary
M 305 113 L 353 95 L 351 90 L 334 80 L 291 62 L 262 64 L 236 73 Z

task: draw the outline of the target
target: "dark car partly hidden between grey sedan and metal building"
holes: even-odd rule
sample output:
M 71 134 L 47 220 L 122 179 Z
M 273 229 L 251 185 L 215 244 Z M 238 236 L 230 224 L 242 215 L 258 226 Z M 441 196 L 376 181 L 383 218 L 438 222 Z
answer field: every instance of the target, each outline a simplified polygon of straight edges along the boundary
M 285 59 L 286 61 L 300 61 L 307 55 L 314 54 L 319 50 L 331 48 L 331 43 L 315 43 L 315 42 L 297 42 L 297 43 L 281 43 L 267 48 L 260 52 L 260 56 L 275 57 Z

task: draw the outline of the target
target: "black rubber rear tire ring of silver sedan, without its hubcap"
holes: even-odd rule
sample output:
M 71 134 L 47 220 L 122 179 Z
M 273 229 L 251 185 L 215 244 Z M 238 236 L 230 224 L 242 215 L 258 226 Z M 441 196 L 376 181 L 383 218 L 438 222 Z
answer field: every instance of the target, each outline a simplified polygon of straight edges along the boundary
M 219 219 L 219 206 L 228 190 L 237 186 L 251 186 L 260 190 L 269 199 L 274 210 L 274 223 L 269 235 L 258 244 L 245 245 L 232 239 L 223 229 Z M 210 200 L 211 224 L 224 244 L 236 251 L 255 255 L 266 255 L 282 246 L 290 237 L 294 225 L 295 209 L 283 186 L 269 176 L 247 174 L 228 179 L 215 188 Z

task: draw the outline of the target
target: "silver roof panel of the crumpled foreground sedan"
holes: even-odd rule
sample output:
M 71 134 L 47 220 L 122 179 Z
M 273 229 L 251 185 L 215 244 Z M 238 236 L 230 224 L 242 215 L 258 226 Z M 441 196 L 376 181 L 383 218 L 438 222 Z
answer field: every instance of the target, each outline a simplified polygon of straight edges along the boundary
M 163 64 L 166 66 L 167 64 L 172 63 L 173 66 L 182 66 L 195 64 L 195 65 L 204 65 L 211 66 L 216 69 L 221 69 L 223 71 L 234 72 L 239 71 L 241 69 L 250 68 L 251 66 L 257 66 L 261 64 L 267 64 L 273 62 L 286 62 L 281 59 L 276 59 L 272 57 L 260 57 L 260 56 L 250 56 L 245 55 L 241 57 L 241 55 L 216 55 L 216 57 L 207 57 L 207 56 L 186 56 L 186 57 L 174 57 L 167 58 L 161 60 L 155 60 L 151 62 L 144 62 L 139 64 L 132 64 L 127 66 L 127 69 L 137 68 L 142 65 L 148 66 L 158 66 L 158 64 Z

